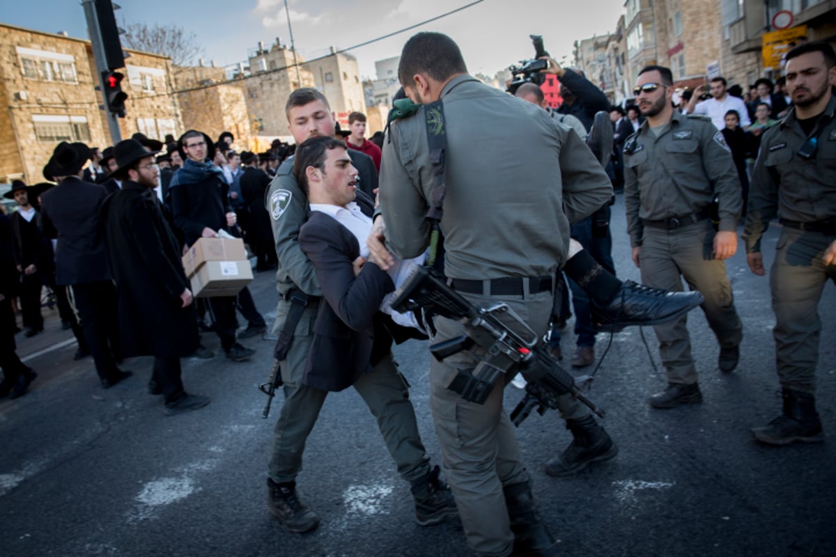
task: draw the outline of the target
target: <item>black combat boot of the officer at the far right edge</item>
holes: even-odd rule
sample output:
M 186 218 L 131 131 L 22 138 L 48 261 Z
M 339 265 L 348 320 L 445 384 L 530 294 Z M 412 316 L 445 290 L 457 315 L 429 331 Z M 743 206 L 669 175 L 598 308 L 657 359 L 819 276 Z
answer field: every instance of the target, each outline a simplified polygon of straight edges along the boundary
M 822 422 L 816 412 L 816 398 L 808 392 L 784 387 L 783 413 L 762 428 L 752 428 L 755 438 L 769 445 L 822 443 Z

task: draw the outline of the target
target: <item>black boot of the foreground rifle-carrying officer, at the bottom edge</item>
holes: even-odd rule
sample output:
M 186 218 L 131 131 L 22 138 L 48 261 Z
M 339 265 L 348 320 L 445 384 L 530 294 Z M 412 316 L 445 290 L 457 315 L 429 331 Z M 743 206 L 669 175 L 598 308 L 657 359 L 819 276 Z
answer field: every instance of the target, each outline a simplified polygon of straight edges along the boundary
M 540 520 L 537 509 L 534 508 L 531 484 L 523 482 L 506 485 L 502 488 L 502 493 L 505 494 L 508 519 L 511 520 L 511 531 L 514 534 L 512 555 L 557 557 L 558 542 L 549 533 L 546 524 Z

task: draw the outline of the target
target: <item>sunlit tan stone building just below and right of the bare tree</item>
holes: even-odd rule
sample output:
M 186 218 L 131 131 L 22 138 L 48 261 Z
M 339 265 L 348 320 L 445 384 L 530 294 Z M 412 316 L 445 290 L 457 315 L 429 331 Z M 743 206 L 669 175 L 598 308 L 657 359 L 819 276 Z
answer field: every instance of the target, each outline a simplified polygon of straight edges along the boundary
M 183 129 L 199 129 L 212 139 L 232 132 L 233 146 L 252 149 L 251 123 L 242 80 L 227 81 L 223 68 L 195 66 L 173 69 Z

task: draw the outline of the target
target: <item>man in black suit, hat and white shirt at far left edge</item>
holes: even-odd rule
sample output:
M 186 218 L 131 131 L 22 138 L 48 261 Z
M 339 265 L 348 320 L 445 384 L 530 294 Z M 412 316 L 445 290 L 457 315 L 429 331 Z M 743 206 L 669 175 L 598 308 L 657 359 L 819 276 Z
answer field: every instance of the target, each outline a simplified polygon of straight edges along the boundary
M 20 311 L 23 313 L 24 333 L 33 337 L 43 331 L 41 315 L 41 291 L 48 264 L 47 246 L 38 230 L 38 211 L 29 202 L 30 193 L 26 184 L 14 180 L 12 190 L 3 194 L 18 204 L 18 210 L 8 217 L 12 225 L 15 261 L 20 273 Z

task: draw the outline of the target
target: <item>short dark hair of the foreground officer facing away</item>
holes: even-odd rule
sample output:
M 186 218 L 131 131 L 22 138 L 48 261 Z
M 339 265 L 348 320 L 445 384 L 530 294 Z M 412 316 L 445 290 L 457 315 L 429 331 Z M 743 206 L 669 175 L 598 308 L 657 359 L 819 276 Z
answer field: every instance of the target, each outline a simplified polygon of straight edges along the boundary
M 442 33 L 425 31 L 406 41 L 400 52 L 400 84 L 410 86 L 415 73 L 426 73 L 436 81 L 444 82 L 456 73 L 467 73 L 467 66 L 453 39 Z

